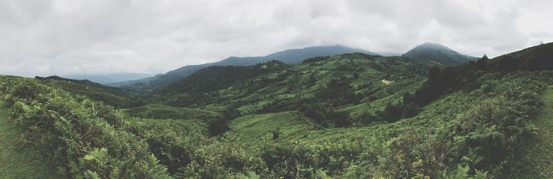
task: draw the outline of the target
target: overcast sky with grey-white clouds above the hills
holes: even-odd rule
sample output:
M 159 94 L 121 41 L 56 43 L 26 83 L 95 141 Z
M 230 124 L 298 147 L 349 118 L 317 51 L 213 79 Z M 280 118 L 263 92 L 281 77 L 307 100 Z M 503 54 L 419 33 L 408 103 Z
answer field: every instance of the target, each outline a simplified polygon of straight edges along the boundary
M 550 0 L 0 0 L 0 74 L 165 73 L 337 44 L 494 57 L 553 41 L 551 17 Z

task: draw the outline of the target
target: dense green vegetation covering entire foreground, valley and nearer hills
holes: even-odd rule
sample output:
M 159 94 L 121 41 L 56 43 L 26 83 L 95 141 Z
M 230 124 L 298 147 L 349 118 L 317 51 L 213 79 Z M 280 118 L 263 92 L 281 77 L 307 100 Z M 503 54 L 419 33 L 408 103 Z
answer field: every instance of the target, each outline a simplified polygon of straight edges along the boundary
M 0 94 L 68 178 L 547 178 L 528 155 L 548 140 L 534 119 L 551 46 L 449 68 L 361 53 L 214 66 L 122 110 L 21 77 Z

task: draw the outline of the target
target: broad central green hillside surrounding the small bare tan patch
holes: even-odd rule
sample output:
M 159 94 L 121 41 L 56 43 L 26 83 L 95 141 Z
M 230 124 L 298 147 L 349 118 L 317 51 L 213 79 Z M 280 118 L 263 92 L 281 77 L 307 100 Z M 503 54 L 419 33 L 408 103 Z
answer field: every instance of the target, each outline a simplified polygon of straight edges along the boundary
M 215 111 L 230 108 L 243 114 L 308 110 L 304 109 L 305 102 L 320 104 L 320 110 L 348 107 L 343 110 L 348 111 L 370 104 L 384 109 L 391 101 L 380 99 L 414 91 L 430 68 L 402 57 L 362 53 L 317 57 L 292 66 L 277 61 L 255 66 L 214 66 L 144 100 Z M 383 79 L 394 83 L 385 84 Z M 360 115 L 355 113 L 356 117 Z

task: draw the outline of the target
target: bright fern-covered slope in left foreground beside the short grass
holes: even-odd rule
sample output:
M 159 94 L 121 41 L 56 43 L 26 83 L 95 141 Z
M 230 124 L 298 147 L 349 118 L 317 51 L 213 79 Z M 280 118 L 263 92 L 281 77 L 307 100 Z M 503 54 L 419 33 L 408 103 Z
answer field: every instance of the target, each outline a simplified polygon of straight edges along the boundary
M 37 145 L 63 176 L 169 177 L 144 140 L 119 129 L 124 119 L 113 108 L 104 113 L 103 104 L 33 79 L 0 76 L 0 91 L 9 94 L 3 97 L 24 129 L 22 139 Z

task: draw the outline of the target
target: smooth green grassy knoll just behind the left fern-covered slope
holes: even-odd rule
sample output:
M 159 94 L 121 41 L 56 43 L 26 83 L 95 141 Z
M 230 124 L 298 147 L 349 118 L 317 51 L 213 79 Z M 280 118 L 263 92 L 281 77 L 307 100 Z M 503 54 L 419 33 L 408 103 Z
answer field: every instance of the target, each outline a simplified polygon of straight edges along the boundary
M 154 119 L 178 119 L 178 120 L 212 120 L 220 117 L 218 113 L 200 109 L 177 108 L 160 104 L 124 109 L 126 113 L 135 117 Z

